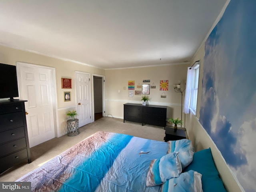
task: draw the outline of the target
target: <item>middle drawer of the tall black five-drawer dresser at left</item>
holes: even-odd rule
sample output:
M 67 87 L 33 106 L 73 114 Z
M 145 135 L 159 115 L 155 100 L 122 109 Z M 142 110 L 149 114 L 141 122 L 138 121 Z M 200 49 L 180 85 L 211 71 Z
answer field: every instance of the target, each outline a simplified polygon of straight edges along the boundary
M 0 136 L 1 136 L 0 144 L 24 137 L 25 136 L 24 127 L 19 127 L 19 128 L 0 132 Z

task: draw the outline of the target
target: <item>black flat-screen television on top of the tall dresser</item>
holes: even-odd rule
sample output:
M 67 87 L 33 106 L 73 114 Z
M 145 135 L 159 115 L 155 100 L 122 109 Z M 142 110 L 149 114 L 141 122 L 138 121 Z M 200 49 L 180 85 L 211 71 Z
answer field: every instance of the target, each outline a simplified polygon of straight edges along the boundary
M 0 63 L 0 98 L 18 97 L 16 66 Z

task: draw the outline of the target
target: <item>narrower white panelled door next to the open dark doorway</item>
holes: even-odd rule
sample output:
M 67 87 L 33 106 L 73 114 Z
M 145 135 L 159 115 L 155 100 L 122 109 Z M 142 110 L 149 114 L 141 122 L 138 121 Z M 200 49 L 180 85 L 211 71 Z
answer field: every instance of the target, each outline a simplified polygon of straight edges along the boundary
M 76 102 L 79 127 L 91 122 L 90 74 L 76 71 Z

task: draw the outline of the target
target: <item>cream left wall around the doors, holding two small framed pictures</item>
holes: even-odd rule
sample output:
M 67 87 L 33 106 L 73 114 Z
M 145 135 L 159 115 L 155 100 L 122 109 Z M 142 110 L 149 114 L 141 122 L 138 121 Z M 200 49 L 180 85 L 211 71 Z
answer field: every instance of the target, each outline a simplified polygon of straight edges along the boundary
M 0 46 L 0 63 L 16 65 L 16 62 L 24 62 L 35 65 L 54 67 L 56 70 L 56 86 L 57 86 L 57 108 L 58 122 L 56 130 L 57 136 L 60 137 L 67 133 L 66 112 L 76 109 L 76 90 L 75 90 L 75 71 L 87 72 L 90 74 L 104 75 L 105 70 L 94 68 L 75 62 L 68 62 L 40 54 L 8 48 Z M 61 78 L 72 78 L 72 89 L 61 88 Z M 92 78 L 92 76 L 91 76 Z M 92 82 L 92 81 L 91 81 Z M 63 92 L 70 91 L 71 101 L 64 102 Z M 92 107 L 92 106 L 91 106 Z

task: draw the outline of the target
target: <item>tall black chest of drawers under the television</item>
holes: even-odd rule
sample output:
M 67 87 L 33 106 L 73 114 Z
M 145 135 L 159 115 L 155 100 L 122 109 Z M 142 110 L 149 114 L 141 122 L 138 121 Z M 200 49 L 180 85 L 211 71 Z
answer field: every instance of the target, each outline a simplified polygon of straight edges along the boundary
M 0 173 L 30 158 L 25 100 L 0 101 Z

